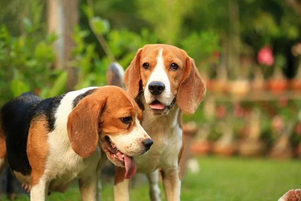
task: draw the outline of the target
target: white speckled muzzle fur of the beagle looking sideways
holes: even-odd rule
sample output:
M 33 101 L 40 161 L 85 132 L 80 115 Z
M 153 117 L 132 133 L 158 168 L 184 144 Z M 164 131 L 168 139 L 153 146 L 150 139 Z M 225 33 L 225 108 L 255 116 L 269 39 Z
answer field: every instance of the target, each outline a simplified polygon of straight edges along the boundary
M 119 134 L 109 136 L 111 141 L 116 145 L 117 149 L 128 156 L 140 155 L 145 151 L 142 143 L 143 140 L 150 139 L 136 116 L 135 126 L 129 134 Z

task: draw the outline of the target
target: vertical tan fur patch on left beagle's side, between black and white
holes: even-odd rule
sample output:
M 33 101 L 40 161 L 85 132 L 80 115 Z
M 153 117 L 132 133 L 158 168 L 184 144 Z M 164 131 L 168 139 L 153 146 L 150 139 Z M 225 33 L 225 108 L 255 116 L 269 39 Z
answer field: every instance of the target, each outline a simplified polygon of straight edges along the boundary
M 31 186 L 39 183 L 45 172 L 46 160 L 49 155 L 47 120 L 39 116 L 31 121 L 27 141 L 27 155 L 32 167 Z

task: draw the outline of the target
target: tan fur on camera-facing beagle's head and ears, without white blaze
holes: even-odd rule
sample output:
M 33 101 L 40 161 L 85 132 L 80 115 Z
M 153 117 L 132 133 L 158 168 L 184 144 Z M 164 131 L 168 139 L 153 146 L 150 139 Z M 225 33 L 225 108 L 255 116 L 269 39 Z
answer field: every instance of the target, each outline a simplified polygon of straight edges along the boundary
M 143 90 L 145 89 L 148 78 L 157 64 L 158 52 L 162 48 L 165 71 L 170 80 L 171 92 L 177 95 L 177 105 L 183 112 L 193 114 L 205 96 L 205 82 L 202 80 L 194 60 L 184 50 L 175 46 L 156 44 L 145 45 L 139 49 L 125 70 L 126 89 L 135 98 L 139 92 L 140 80 Z M 144 69 L 143 63 L 148 63 L 149 69 Z M 173 63 L 179 66 L 175 71 L 170 69 Z

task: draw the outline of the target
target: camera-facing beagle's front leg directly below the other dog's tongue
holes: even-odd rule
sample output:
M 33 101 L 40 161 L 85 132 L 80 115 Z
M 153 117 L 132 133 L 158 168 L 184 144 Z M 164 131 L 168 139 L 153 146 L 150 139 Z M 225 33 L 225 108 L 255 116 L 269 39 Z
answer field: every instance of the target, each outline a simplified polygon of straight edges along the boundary
M 130 179 L 124 179 L 125 168 L 115 166 L 114 200 L 129 201 Z

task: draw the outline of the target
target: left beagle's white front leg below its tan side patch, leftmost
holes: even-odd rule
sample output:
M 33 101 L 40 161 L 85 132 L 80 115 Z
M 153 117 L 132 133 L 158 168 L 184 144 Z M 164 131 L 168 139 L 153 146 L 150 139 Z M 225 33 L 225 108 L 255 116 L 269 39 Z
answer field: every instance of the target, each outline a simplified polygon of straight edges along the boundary
M 49 182 L 44 176 L 38 177 L 35 172 L 32 172 L 31 175 L 31 192 L 30 200 L 31 201 L 43 201 L 46 200 L 46 195 L 48 192 Z

